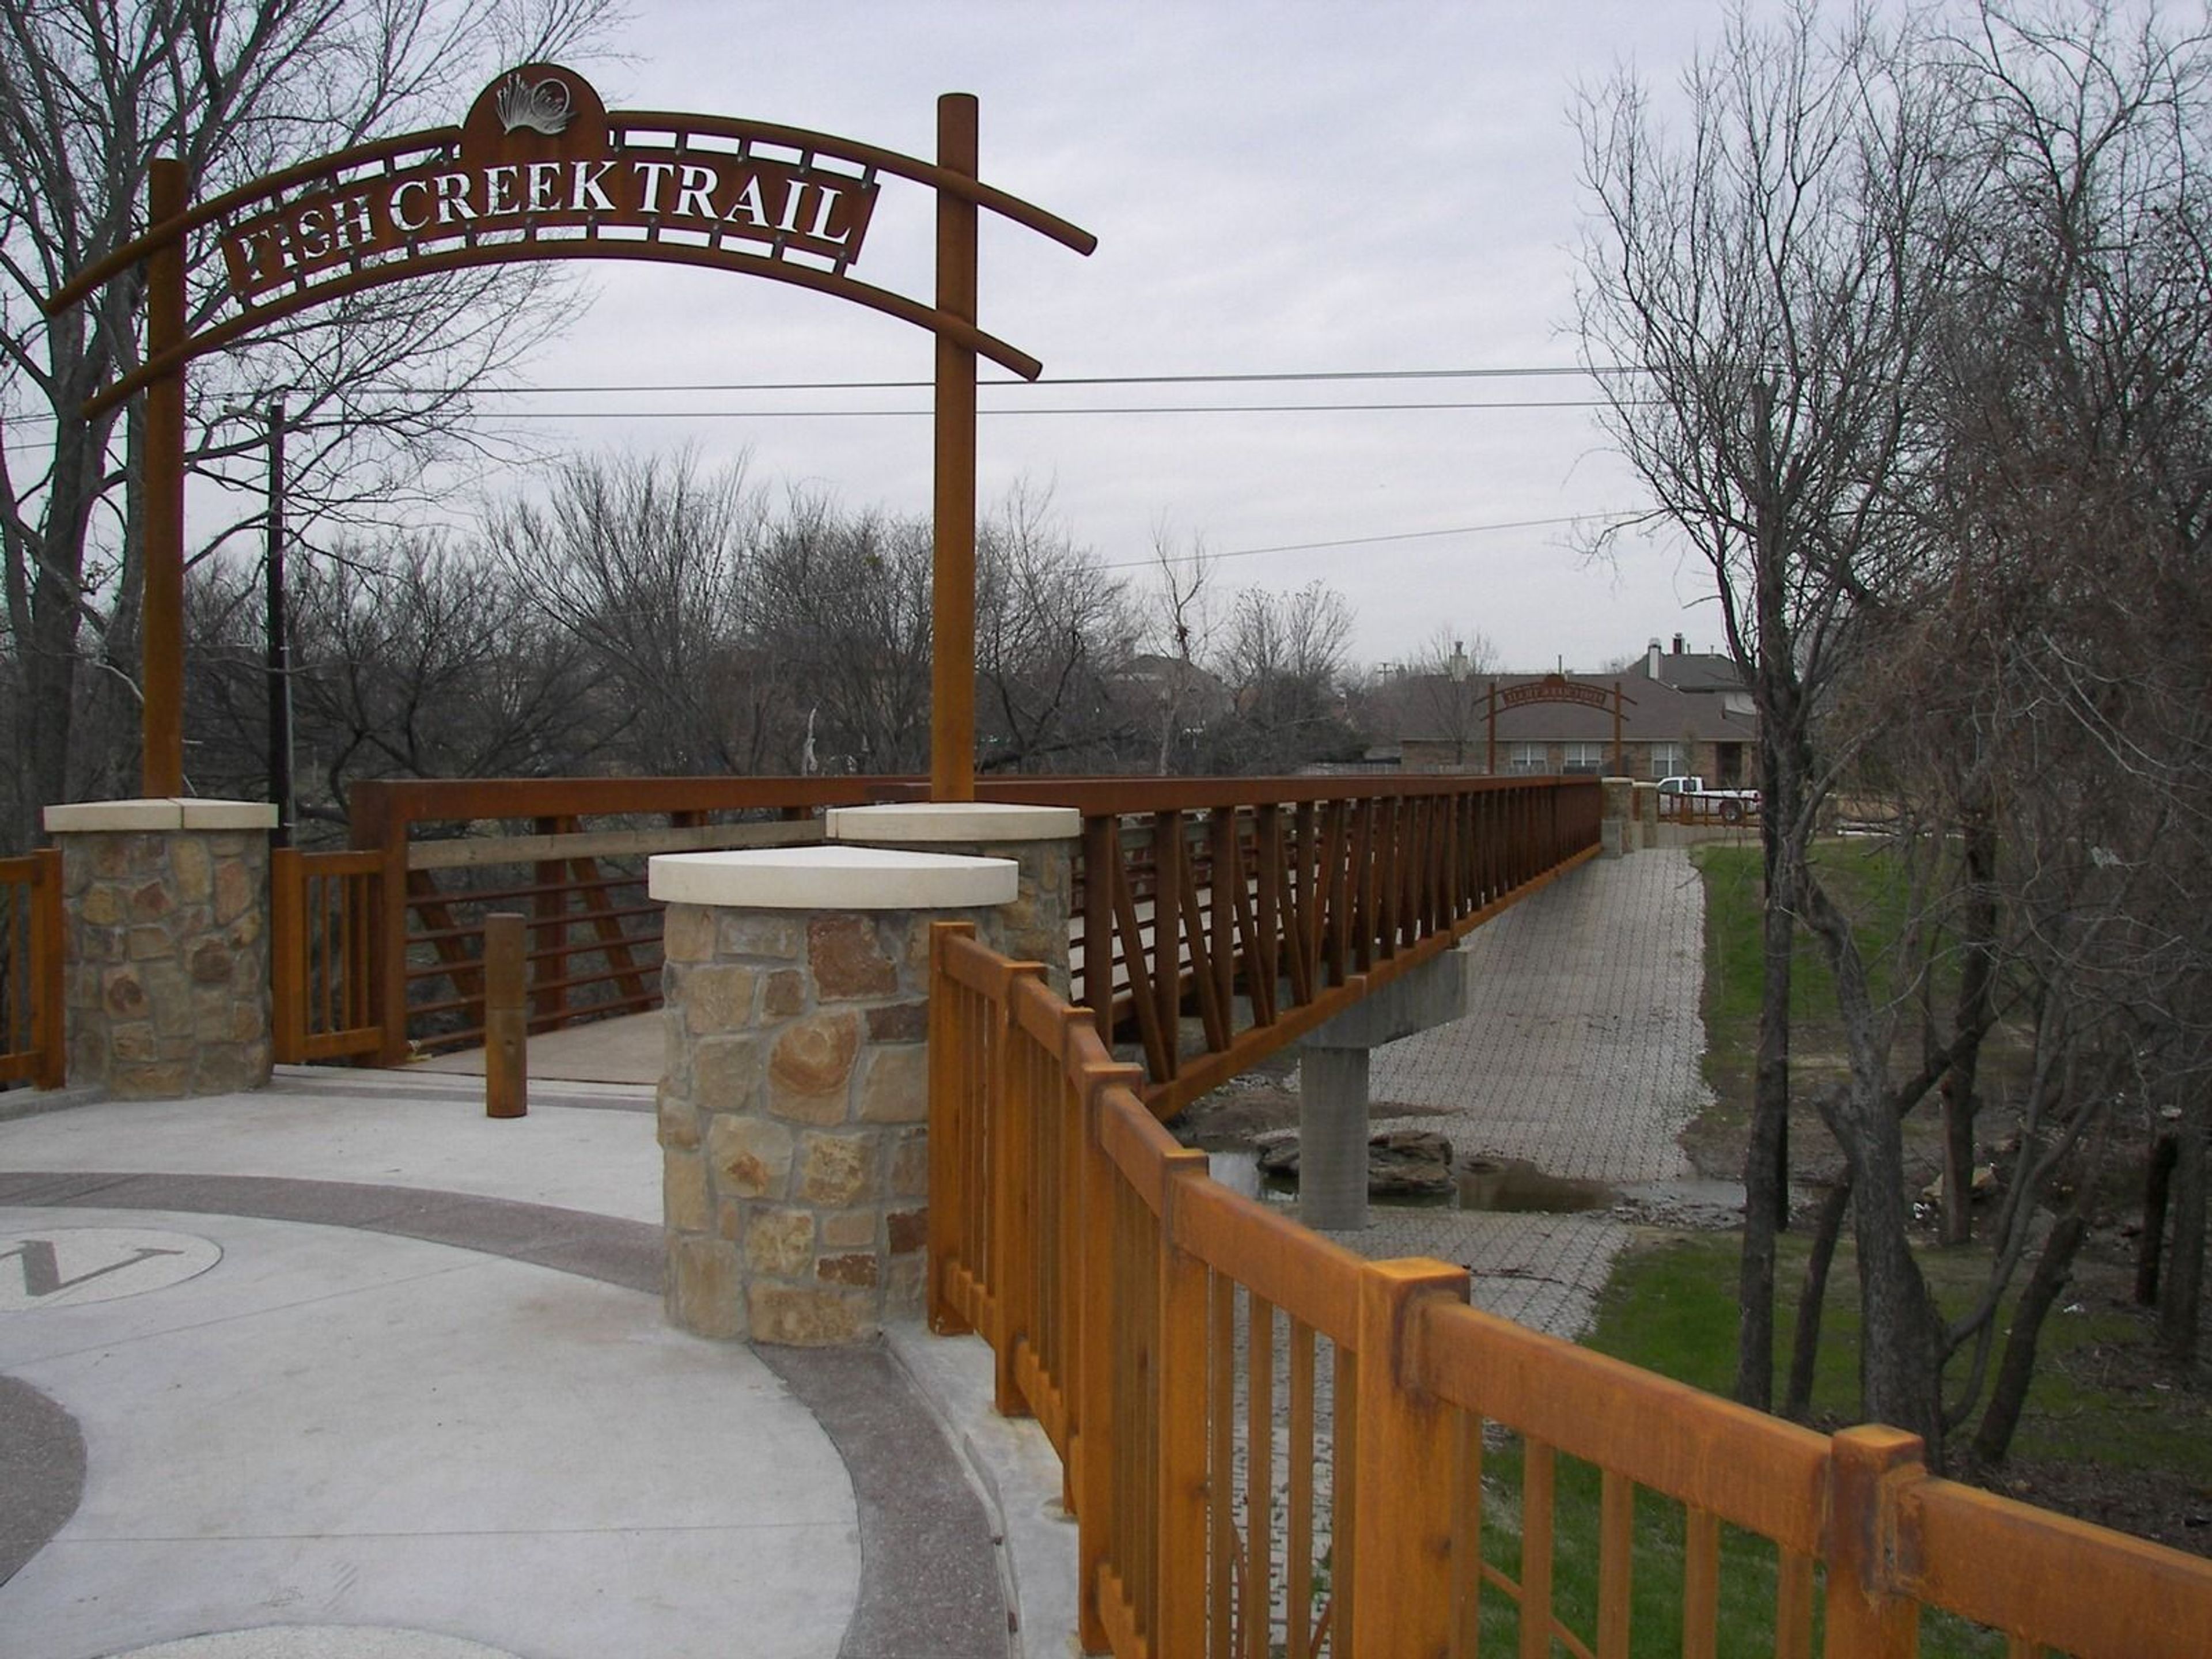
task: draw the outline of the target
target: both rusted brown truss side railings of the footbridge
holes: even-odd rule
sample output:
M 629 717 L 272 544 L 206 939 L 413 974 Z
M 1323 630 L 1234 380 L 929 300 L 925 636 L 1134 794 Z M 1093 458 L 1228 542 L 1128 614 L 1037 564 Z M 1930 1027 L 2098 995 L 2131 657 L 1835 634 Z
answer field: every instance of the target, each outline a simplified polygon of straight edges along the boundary
M 482 1042 L 482 927 L 529 918 L 529 1022 L 659 1006 L 659 852 L 781 845 L 918 779 L 407 779 L 356 783 L 345 854 L 272 867 L 279 1060 Z M 1593 781 L 1015 779 L 987 801 L 1084 814 L 1071 958 L 1102 1031 L 1170 1113 L 1486 905 L 1597 845 Z M 1183 1029 L 1186 1011 L 1194 1029 Z

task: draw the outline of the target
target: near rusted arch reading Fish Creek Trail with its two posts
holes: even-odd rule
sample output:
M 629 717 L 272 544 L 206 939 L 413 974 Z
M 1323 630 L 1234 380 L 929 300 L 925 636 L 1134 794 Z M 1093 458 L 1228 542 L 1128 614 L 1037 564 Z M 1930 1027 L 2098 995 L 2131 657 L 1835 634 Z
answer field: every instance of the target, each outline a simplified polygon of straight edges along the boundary
M 885 184 L 936 192 L 936 296 L 852 274 Z M 144 363 L 84 405 L 146 392 L 144 792 L 184 794 L 184 372 L 310 305 L 438 270 L 648 259 L 796 283 L 936 334 L 931 794 L 975 794 L 975 363 L 1044 365 L 975 325 L 980 210 L 1088 254 L 1097 239 L 978 177 L 975 100 L 938 100 L 938 159 L 728 115 L 608 111 L 560 64 L 500 75 L 458 126 L 356 144 L 190 201 L 155 161 L 148 230 L 80 272 L 49 314 L 146 265 Z M 210 270 L 219 265 L 219 272 Z M 226 303 L 197 334 L 186 290 Z

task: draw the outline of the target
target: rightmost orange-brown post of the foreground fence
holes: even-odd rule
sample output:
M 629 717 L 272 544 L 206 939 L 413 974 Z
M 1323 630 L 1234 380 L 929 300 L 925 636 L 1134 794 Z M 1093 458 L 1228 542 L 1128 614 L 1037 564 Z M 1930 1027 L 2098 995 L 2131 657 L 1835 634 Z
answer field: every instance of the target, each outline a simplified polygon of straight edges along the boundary
M 1927 1480 L 1920 1436 L 1880 1422 L 1829 1440 L 1827 1652 L 1911 1659 L 1920 1604 L 1896 1593 L 1898 1495 Z

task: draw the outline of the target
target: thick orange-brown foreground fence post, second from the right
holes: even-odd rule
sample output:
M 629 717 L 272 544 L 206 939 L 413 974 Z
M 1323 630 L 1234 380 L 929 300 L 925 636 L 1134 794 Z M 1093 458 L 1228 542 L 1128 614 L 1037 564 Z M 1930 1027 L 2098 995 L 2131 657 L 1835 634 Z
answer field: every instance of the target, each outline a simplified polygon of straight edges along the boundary
M 1360 1659 L 1438 1655 L 1451 1635 L 1451 1411 L 1420 1387 L 1420 1305 L 1467 1303 L 1467 1270 L 1360 1270 L 1352 1641 Z M 1469 1571 L 1473 1571 L 1469 1566 Z

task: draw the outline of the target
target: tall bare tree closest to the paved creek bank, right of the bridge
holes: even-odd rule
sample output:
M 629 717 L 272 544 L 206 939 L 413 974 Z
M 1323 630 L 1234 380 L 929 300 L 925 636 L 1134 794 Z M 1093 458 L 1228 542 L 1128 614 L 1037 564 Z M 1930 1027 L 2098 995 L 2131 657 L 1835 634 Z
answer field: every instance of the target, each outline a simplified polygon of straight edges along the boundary
M 1907 1241 L 1885 1011 L 1849 918 L 1807 858 L 1849 757 L 1818 714 L 1867 595 L 1920 557 L 1900 507 L 1918 462 L 1911 387 L 1940 281 L 1936 88 L 1865 18 L 1743 13 L 1686 75 L 1670 137 L 1632 75 L 1584 95 L 1593 219 L 1579 316 L 1608 376 L 1608 427 L 1655 515 L 1708 562 L 1761 721 L 1765 982 L 1745 1159 L 1736 1394 L 1772 1398 L 1774 1228 L 1785 1203 L 1790 951 L 1803 922 L 1838 987 L 1851 1082 L 1823 1115 L 1854 1179 L 1869 1413 L 1940 1455 L 1940 1338 Z

